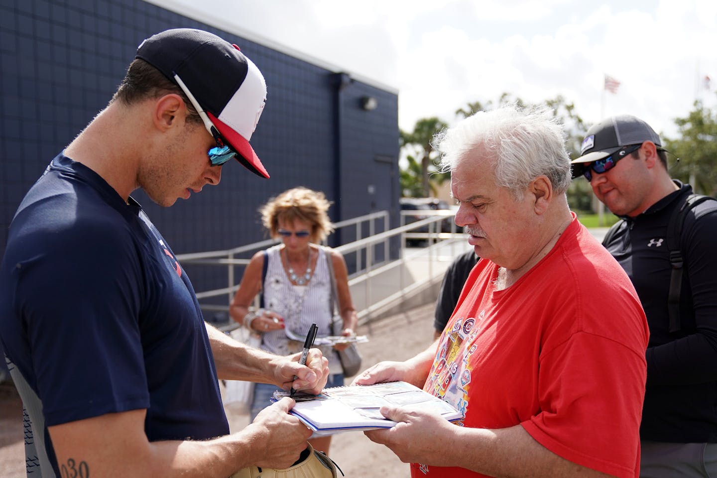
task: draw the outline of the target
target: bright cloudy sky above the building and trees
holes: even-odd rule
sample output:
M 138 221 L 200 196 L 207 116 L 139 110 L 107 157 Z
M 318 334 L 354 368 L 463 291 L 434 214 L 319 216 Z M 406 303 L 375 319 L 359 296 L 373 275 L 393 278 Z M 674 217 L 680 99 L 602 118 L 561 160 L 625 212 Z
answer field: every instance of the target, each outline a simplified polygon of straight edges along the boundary
M 196 0 L 152 0 L 196 11 Z M 508 92 L 563 95 L 587 123 L 630 113 L 675 135 L 717 105 L 714 0 L 201 0 L 202 19 L 399 91 L 399 126 Z M 604 91 L 604 75 L 620 82 Z M 709 90 L 704 78 L 711 77 Z

